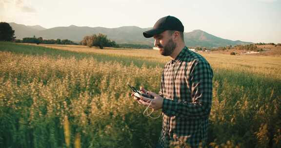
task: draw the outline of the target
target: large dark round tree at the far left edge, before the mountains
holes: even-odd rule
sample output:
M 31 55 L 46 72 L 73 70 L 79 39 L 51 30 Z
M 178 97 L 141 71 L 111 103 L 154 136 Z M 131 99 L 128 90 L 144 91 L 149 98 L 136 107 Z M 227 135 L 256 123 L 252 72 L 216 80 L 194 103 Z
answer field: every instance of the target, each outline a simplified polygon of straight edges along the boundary
M 0 40 L 13 41 L 16 37 L 15 30 L 6 22 L 0 22 Z

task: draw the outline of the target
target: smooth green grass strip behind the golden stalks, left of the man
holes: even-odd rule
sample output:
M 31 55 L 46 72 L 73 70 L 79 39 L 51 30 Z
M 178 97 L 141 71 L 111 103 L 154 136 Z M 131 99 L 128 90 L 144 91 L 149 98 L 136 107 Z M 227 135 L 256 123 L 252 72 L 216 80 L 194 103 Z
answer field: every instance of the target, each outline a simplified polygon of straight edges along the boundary
M 61 46 L 59 46 L 61 47 Z M 116 54 L 100 54 L 93 52 L 80 52 L 80 50 L 67 51 L 67 50 L 56 50 L 52 48 L 47 48 L 43 46 L 30 46 L 26 44 L 12 44 L 10 42 L 0 42 L 0 51 L 13 52 L 17 54 L 24 55 L 44 55 L 52 58 L 64 57 L 70 58 L 74 57 L 76 59 L 81 58 L 95 58 L 98 62 L 106 61 L 118 61 L 122 65 L 129 66 L 132 62 L 134 65 L 141 67 L 143 64 L 149 65 L 150 67 L 163 66 L 163 62 L 155 62 L 154 57 L 143 57 L 143 56 L 120 56 Z M 130 53 L 130 51 L 126 51 Z M 167 60 L 164 60 L 167 61 Z

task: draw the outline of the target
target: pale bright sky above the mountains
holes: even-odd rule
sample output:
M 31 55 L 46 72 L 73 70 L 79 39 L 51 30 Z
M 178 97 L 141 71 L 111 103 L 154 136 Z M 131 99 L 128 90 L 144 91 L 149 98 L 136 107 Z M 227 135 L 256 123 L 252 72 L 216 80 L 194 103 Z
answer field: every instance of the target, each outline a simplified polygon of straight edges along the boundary
M 184 32 L 281 43 L 281 0 L 0 0 L 0 21 L 44 28 L 148 28 L 168 15 L 181 20 Z

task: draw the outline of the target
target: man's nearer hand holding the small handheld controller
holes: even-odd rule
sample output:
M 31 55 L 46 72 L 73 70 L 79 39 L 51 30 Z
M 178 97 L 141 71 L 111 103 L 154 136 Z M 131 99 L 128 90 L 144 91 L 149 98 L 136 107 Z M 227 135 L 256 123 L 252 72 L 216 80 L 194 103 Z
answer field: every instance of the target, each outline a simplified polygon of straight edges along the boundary
M 138 100 L 138 102 L 145 106 L 148 106 L 150 104 L 150 102 L 152 101 L 149 106 L 150 108 L 152 108 L 153 110 L 162 109 L 164 98 L 154 92 L 147 92 L 147 94 L 153 96 L 154 99 L 141 96 L 140 99 Z

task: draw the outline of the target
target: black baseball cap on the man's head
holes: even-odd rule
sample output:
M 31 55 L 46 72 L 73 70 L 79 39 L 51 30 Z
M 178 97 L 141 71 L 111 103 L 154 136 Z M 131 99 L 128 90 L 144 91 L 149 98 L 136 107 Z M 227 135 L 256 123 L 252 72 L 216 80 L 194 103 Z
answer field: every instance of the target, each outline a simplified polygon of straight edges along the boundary
M 154 35 L 161 34 L 166 30 L 176 30 L 176 31 L 183 32 L 184 27 L 180 19 L 177 19 L 176 17 L 172 17 L 172 16 L 166 16 L 159 19 L 154 24 L 152 29 L 145 31 L 142 34 L 144 37 L 149 38 L 149 37 L 153 37 Z

